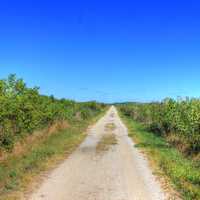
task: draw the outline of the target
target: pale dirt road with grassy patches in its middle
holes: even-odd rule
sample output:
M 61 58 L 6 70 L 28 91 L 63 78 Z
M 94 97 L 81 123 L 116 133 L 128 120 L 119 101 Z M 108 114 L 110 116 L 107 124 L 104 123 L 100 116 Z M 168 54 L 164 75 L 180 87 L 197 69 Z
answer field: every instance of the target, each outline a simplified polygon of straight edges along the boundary
M 127 136 L 111 107 L 80 147 L 29 200 L 161 200 L 165 199 L 147 161 Z

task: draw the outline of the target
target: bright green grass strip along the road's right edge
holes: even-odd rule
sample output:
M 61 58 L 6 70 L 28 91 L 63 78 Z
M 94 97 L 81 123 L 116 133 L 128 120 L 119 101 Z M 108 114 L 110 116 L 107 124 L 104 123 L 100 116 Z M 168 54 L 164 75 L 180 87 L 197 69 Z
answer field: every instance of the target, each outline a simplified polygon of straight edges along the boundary
M 170 180 L 172 186 L 185 200 L 200 200 L 200 164 L 185 158 L 167 141 L 145 130 L 144 126 L 120 113 L 128 127 L 129 135 L 136 147 L 147 153 L 149 159 L 160 169 L 161 175 Z

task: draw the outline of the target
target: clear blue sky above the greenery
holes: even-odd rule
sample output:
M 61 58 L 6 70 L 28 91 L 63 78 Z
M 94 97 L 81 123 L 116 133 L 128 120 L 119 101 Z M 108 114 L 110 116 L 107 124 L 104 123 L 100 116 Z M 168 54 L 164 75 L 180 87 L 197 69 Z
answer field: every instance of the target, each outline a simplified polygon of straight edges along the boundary
M 0 78 L 43 94 L 151 101 L 200 95 L 198 1 L 2 1 Z

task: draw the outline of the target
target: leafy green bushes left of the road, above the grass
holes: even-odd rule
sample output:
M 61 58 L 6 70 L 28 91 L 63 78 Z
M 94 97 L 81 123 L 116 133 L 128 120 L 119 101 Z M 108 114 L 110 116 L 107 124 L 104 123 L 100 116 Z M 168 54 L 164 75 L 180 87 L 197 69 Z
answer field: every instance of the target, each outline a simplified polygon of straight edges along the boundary
M 22 79 L 10 75 L 0 80 L 0 148 L 11 150 L 22 135 L 48 126 L 57 120 L 88 119 L 105 105 L 97 102 L 76 103 L 39 94 L 39 88 L 29 88 Z

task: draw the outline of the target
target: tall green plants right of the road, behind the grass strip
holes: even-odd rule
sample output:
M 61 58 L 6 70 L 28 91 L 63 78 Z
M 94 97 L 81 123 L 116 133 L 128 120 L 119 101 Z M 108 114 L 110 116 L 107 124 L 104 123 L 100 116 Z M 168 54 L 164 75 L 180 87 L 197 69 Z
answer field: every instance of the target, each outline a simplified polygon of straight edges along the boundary
M 186 154 L 200 152 L 200 99 L 165 99 L 153 103 L 129 103 L 121 111 L 146 127 L 170 139 Z

